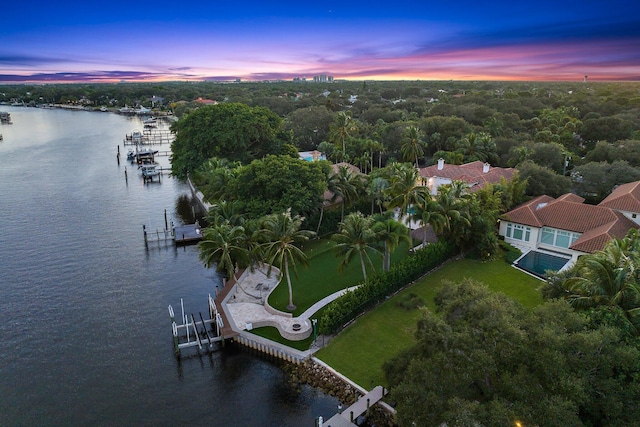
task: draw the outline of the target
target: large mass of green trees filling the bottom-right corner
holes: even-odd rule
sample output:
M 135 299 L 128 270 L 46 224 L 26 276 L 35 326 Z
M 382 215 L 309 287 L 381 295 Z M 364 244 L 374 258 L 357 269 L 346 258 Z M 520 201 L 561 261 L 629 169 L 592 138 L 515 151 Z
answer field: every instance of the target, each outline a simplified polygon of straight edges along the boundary
M 620 426 L 640 419 L 640 351 L 564 301 L 533 312 L 467 280 L 385 364 L 400 426 Z M 520 423 L 520 424 L 518 424 Z

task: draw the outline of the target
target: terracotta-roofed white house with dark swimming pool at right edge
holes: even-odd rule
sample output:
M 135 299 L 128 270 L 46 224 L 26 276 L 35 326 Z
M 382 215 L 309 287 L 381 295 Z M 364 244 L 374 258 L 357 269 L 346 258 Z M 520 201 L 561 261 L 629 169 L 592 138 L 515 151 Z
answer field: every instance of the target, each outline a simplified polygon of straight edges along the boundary
M 640 181 L 621 185 L 597 206 L 571 193 L 536 197 L 502 215 L 499 234 L 524 252 L 516 264 L 525 270 L 542 275 L 546 269 L 568 268 L 579 256 L 640 228 L 640 203 L 630 200 L 634 191 L 640 195 L 639 186 Z

